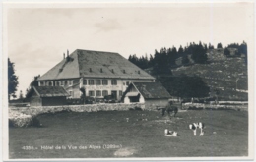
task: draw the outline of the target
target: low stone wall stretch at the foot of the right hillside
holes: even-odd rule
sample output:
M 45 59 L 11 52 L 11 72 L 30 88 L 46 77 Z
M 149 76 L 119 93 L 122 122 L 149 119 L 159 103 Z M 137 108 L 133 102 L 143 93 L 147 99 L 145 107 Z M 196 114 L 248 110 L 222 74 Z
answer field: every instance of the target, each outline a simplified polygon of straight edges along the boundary
M 182 109 L 214 109 L 248 111 L 248 105 L 211 105 L 211 104 L 182 104 Z

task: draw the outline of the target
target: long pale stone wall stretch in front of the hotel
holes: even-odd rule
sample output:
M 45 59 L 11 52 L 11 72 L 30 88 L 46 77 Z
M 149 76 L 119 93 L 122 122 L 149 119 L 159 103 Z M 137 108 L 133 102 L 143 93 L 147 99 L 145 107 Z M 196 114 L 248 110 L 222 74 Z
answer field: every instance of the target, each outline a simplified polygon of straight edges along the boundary
M 97 111 L 126 111 L 134 108 L 145 109 L 142 103 L 110 103 L 110 104 L 87 104 L 87 105 L 62 105 L 62 106 L 32 106 L 29 108 L 21 108 L 18 111 L 32 116 L 42 113 L 55 113 L 60 111 L 72 112 L 97 112 Z

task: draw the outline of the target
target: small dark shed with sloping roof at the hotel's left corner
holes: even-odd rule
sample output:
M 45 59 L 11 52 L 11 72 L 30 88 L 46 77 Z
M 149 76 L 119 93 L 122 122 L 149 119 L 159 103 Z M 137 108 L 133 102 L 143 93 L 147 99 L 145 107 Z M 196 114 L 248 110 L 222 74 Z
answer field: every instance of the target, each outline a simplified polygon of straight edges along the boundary
M 32 86 L 31 106 L 65 105 L 68 92 L 62 86 Z

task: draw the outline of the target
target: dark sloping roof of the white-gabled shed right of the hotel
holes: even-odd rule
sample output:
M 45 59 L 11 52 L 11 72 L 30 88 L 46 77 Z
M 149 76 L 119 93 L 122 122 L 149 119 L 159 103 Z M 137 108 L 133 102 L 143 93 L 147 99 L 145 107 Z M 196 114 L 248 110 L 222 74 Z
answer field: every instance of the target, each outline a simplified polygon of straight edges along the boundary
M 133 82 L 145 99 L 170 98 L 170 94 L 159 82 Z

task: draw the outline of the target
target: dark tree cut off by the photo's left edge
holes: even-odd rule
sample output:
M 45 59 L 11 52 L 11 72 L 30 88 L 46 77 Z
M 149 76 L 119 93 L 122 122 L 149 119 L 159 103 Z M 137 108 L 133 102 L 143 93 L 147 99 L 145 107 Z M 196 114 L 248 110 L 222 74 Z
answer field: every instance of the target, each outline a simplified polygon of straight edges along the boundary
M 8 100 L 10 100 L 11 96 L 16 98 L 15 92 L 19 84 L 18 77 L 15 75 L 14 66 L 14 63 L 8 58 Z

